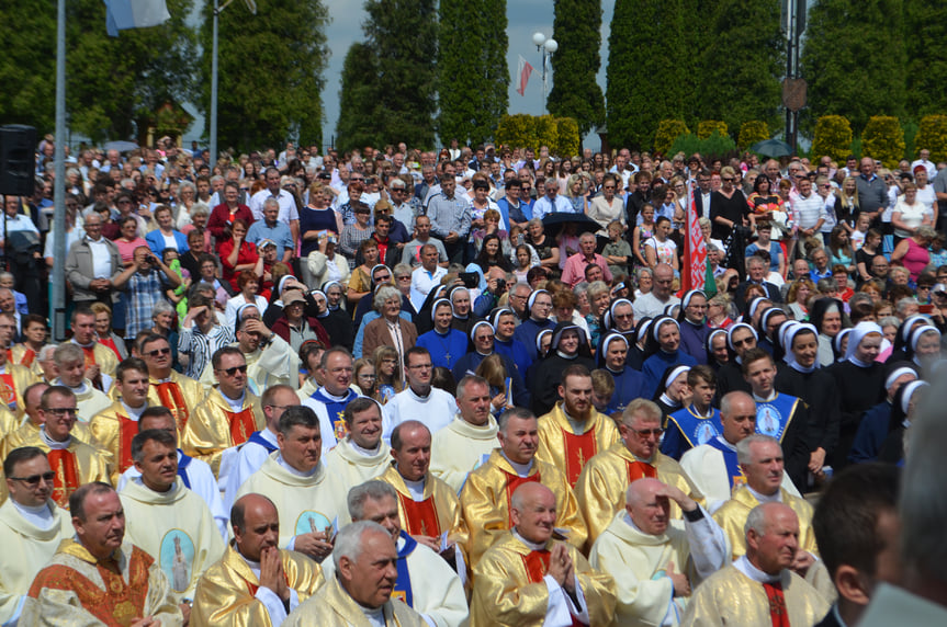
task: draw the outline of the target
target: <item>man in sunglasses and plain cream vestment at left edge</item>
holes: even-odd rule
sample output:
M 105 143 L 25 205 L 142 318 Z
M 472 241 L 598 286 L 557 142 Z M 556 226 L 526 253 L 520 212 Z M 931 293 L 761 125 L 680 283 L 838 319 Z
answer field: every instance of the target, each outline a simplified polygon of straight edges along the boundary
M 49 499 L 52 472 L 36 447 L 19 448 L 3 459 L 10 499 L 0 506 L 0 625 L 20 617 L 36 573 L 75 533 L 69 513 Z

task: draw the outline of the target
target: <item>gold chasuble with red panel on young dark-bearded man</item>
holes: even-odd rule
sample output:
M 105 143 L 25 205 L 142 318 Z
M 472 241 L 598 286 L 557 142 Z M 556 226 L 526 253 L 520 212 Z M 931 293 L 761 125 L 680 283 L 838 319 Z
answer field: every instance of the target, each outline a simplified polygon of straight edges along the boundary
M 563 411 L 563 401 L 559 401 L 551 412 L 539 419 L 539 448 L 535 456 L 562 470 L 568 485 L 575 487 L 588 460 L 619 440 L 615 421 L 595 410 L 585 423 L 584 431 L 573 432 Z

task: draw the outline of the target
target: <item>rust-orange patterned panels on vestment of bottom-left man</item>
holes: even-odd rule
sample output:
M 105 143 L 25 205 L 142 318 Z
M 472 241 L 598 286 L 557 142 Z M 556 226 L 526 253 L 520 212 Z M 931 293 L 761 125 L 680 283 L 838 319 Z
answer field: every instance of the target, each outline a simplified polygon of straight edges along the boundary
M 148 569 L 155 560 L 138 547 L 128 560 L 128 583 L 119 573 L 117 565 L 100 561 L 95 565 L 104 590 L 68 566 L 55 565 L 43 569 L 30 586 L 30 596 L 38 598 L 44 588 L 69 590 L 79 597 L 82 608 L 103 625 L 131 625 L 145 613 L 148 598 Z

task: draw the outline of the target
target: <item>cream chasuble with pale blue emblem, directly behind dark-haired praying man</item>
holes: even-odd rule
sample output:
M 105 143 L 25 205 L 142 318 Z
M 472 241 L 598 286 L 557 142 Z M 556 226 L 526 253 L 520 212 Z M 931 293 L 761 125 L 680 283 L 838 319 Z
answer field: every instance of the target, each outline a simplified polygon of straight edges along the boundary
M 283 464 L 279 451 L 271 453 L 234 497 L 236 501 L 244 494 L 263 494 L 277 505 L 281 548 L 294 536 L 332 527 L 331 536 L 332 531 L 338 532 L 351 522 L 348 492 L 339 489 L 341 480 L 326 470 L 322 460 L 308 477 L 291 471 Z

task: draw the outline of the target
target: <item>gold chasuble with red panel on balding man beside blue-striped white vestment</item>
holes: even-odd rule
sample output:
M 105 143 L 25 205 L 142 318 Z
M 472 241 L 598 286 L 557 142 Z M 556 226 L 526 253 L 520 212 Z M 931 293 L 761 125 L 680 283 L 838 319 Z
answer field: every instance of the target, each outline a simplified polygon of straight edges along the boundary
M 466 547 L 469 533 L 461 516 L 460 500 L 447 483 L 428 472 L 425 477 L 424 500 L 415 501 L 394 463 L 379 479 L 391 485 L 398 493 L 398 518 L 405 533 L 409 536 L 438 537 L 447 532 L 448 544 Z

